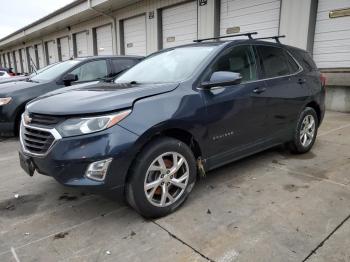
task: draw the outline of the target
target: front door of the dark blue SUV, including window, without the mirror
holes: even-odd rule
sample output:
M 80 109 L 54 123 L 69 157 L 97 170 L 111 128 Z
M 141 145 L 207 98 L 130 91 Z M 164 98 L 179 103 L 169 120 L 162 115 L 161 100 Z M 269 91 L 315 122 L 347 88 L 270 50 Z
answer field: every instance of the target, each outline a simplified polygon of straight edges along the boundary
M 215 155 L 230 155 L 249 148 L 265 137 L 266 99 L 259 81 L 255 53 L 250 45 L 228 48 L 213 63 L 206 77 L 216 71 L 240 73 L 241 84 L 203 90 L 208 110 L 208 141 Z M 228 157 L 230 159 L 230 156 Z

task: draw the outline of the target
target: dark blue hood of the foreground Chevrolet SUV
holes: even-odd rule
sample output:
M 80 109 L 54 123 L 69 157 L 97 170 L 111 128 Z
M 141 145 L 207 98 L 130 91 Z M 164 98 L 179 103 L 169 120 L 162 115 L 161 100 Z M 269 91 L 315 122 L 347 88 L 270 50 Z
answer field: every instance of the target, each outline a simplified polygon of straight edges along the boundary
M 46 115 L 99 114 L 132 107 L 136 100 L 174 90 L 178 84 L 99 83 L 38 97 L 27 106 L 32 113 Z

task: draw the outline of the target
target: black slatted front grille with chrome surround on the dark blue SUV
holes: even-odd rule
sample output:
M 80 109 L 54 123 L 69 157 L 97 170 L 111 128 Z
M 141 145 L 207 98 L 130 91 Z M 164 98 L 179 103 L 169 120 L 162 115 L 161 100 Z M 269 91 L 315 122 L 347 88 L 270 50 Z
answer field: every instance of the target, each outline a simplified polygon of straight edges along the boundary
M 32 154 L 44 155 L 55 142 L 55 137 L 49 131 L 22 126 L 21 139 L 23 147 Z

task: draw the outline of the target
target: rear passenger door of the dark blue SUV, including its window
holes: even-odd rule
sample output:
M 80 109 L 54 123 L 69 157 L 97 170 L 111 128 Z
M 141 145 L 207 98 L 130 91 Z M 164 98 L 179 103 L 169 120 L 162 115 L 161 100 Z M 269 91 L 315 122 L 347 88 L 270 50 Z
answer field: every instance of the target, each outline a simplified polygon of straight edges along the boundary
M 285 136 L 294 127 L 309 92 L 303 83 L 302 68 L 285 49 L 276 46 L 256 46 L 267 89 L 261 94 L 269 101 L 268 133 Z

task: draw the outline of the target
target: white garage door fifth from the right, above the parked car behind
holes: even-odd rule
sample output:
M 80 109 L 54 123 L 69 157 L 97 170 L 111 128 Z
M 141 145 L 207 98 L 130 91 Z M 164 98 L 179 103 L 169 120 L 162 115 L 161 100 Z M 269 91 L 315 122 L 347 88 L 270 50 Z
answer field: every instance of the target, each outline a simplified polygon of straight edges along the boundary
M 112 26 L 96 28 L 97 55 L 113 55 Z

